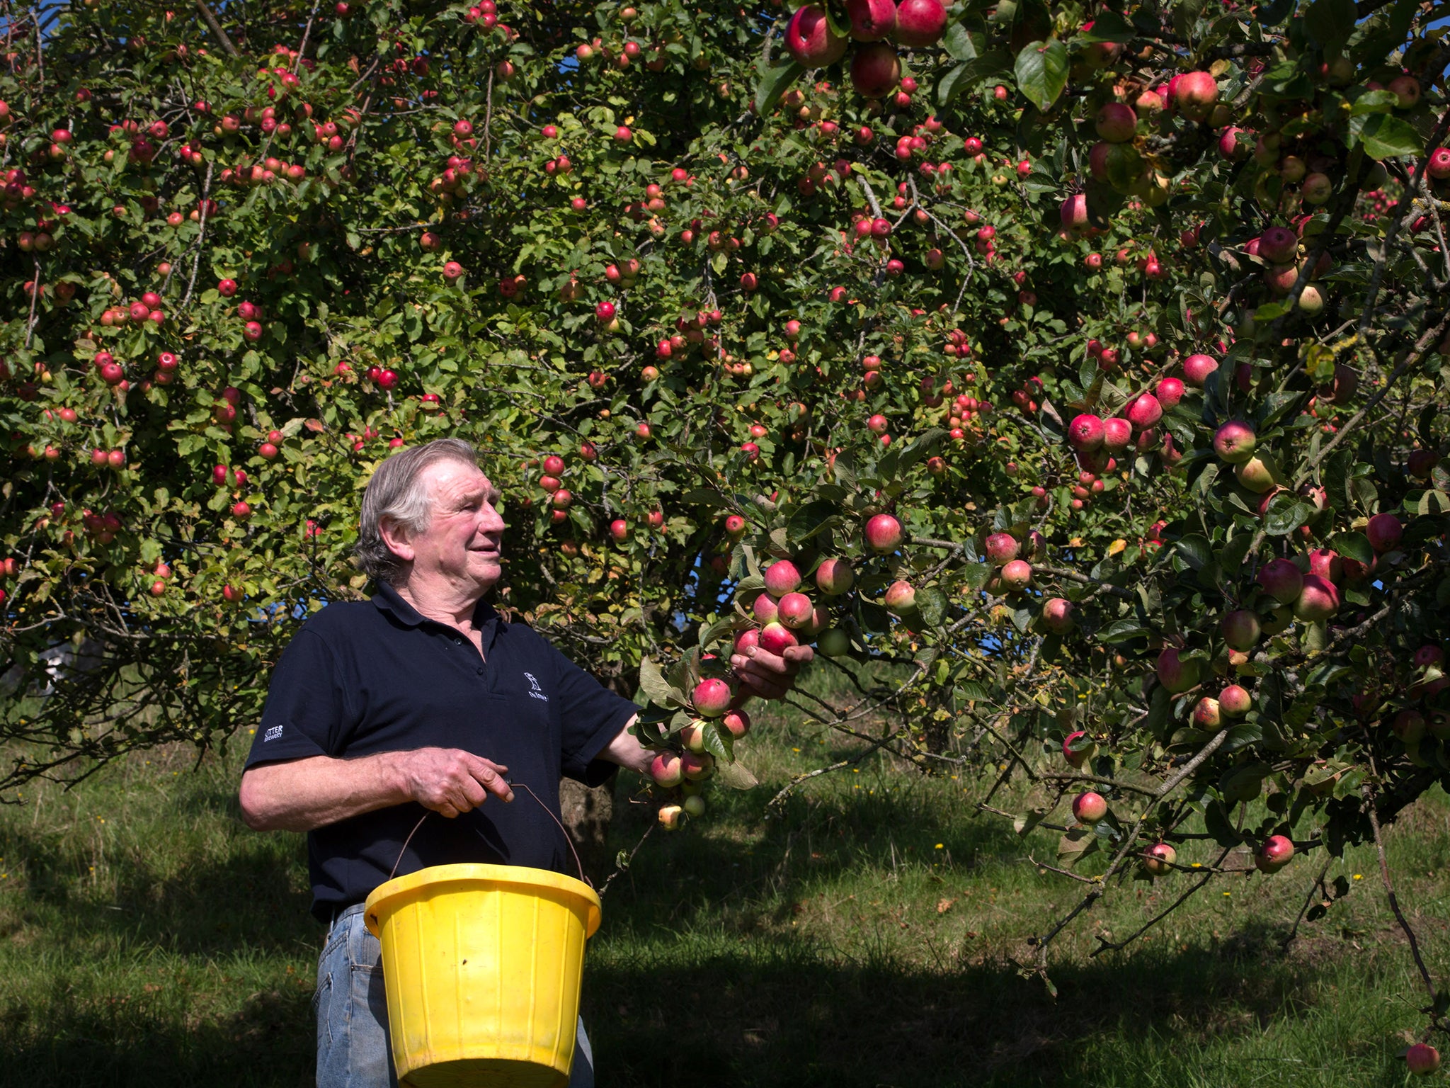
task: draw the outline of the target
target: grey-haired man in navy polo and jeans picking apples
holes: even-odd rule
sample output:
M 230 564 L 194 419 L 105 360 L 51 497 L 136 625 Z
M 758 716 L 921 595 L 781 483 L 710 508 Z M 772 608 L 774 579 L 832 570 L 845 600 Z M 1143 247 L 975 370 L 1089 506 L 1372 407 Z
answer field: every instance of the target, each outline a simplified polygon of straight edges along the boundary
M 403 450 L 362 496 L 368 602 L 312 617 L 273 673 L 242 773 L 255 830 L 307 833 L 318 963 L 318 1085 L 396 1085 L 378 943 L 362 902 L 389 879 L 457 862 L 571 872 L 561 775 L 644 772 L 637 706 L 483 599 L 502 572 L 503 518 L 477 453 L 445 438 Z M 731 659 L 742 691 L 779 698 L 809 647 Z M 510 780 L 548 807 L 513 801 Z M 492 801 L 492 804 L 486 804 Z M 419 820 L 428 812 L 442 820 Z M 554 817 L 554 818 L 551 818 Z M 416 834 L 409 840 L 409 833 Z M 405 849 L 406 844 L 406 849 Z M 593 1084 L 583 1021 L 571 1085 Z

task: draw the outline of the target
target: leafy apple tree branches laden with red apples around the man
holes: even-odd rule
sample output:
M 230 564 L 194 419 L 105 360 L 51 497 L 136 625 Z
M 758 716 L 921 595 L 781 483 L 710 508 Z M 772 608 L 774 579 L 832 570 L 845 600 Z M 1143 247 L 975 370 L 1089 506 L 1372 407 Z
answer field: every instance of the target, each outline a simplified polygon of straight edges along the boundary
M 1433 22 L 0 1 L 0 785 L 223 743 L 460 435 L 666 827 L 753 780 L 728 654 L 811 641 L 1088 881 L 1044 979 L 1122 881 L 1380 843 L 1450 780 Z

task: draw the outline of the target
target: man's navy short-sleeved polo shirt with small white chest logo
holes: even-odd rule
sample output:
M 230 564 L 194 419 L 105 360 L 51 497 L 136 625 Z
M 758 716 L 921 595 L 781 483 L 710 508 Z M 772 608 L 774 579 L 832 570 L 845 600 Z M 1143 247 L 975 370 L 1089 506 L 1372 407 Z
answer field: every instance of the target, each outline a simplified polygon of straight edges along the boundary
M 463 749 L 509 769 L 513 801 L 452 820 L 407 802 L 307 833 L 312 912 L 328 921 L 397 875 L 458 862 L 522 865 L 577 876 L 554 817 L 561 776 L 599 785 L 597 759 L 638 712 L 542 635 L 505 622 L 486 601 L 473 615 L 484 656 L 454 627 L 426 619 L 383 583 L 367 602 L 328 605 L 302 625 L 273 672 L 246 766 L 378 751 Z

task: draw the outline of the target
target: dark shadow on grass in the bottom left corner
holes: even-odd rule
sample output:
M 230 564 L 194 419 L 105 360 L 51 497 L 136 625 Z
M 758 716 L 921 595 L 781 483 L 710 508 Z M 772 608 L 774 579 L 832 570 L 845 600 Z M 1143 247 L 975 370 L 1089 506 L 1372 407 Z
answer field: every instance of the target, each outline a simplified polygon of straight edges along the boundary
M 0 1085 L 304 1088 L 315 1082 L 312 1023 L 310 986 L 257 994 L 220 1021 L 160 994 L 148 1002 L 57 992 L 45 1008 L 0 1014 Z

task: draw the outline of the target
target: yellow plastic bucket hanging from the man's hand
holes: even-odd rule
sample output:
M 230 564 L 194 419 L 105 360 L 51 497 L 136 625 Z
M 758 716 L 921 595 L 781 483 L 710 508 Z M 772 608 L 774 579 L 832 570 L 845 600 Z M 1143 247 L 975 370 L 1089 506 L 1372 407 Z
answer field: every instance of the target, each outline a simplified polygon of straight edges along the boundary
M 563 1088 L 599 897 L 573 876 L 439 865 L 367 897 L 383 944 L 397 1079 L 415 1088 Z

